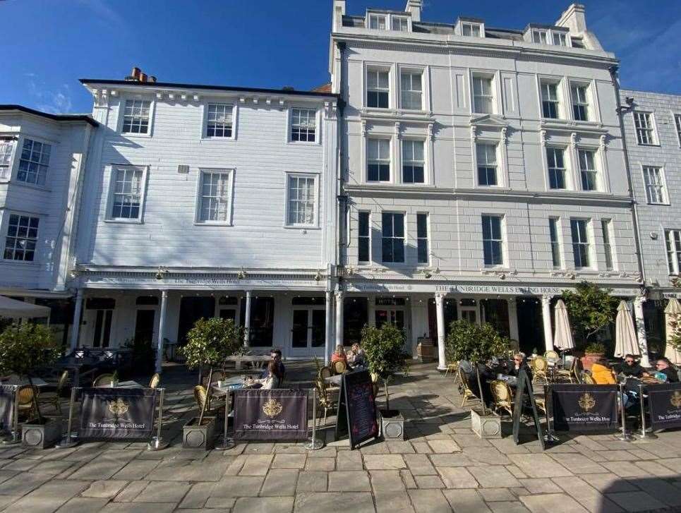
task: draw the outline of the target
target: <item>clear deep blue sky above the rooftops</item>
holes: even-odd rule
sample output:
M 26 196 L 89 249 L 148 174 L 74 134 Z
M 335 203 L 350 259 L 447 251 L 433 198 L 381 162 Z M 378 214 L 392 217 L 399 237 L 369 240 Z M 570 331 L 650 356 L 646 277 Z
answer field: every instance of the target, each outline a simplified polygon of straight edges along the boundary
M 403 9 L 406 0 L 349 0 Z M 424 0 L 423 19 L 552 23 L 569 0 Z M 622 87 L 681 94 L 681 1 L 586 1 L 589 28 L 622 61 Z M 311 89 L 328 80 L 332 0 L 0 0 L 0 103 L 89 112 L 78 78 Z

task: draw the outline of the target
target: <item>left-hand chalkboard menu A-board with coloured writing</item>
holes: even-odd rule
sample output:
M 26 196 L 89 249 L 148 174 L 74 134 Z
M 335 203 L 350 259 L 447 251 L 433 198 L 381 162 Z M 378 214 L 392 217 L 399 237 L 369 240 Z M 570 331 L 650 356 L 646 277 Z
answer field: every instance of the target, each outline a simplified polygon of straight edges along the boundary
M 338 396 L 336 440 L 348 433 L 354 449 L 370 438 L 378 437 L 373 383 L 366 370 L 343 375 Z

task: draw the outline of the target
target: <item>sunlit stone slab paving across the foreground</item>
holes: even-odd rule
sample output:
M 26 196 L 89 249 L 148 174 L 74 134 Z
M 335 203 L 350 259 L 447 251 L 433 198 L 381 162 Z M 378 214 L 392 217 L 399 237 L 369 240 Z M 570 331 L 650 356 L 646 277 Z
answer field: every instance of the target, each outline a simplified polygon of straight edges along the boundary
M 308 386 L 313 367 L 295 369 Z M 351 451 L 321 433 L 323 449 L 250 443 L 229 451 L 183 450 L 195 413 L 194 376 L 164 375 L 168 449 L 88 443 L 72 449 L 0 448 L 0 509 L 16 512 L 622 512 L 681 511 L 681 431 L 651 442 L 577 436 L 538 442 L 481 440 L 453 378 L 416 365 L 392 387 L 409 420 L 406 442 Z M 307 382 L 306 382 L 307 380 Z M 392 398 L 394 397 L 394 401 Z M 334 418 L 327 421 L 332 426 Z M 510 429 L 510 426 L 507 426 Z M 528 439 L 529 440 L 529 439 Z

